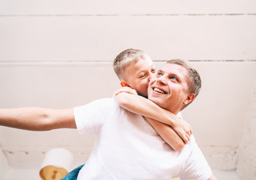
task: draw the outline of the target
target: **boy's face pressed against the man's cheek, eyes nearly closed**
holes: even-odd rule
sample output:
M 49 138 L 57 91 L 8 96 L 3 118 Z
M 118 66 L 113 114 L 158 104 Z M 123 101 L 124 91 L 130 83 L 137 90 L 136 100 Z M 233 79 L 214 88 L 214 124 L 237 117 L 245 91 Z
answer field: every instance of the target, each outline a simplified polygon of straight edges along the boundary
M 135 65 L 126 68 L 125 82 L 135 89 L 138 95 L 148 97 L 148 83 L 155 74 L 156 69 L 151 58 L 141 58 Z

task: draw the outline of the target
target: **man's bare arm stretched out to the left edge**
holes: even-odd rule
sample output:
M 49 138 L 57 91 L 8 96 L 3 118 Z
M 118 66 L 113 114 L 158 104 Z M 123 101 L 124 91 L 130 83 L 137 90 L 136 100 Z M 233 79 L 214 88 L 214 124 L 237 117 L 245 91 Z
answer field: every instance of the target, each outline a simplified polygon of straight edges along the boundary
M 53 110 L 38 107 L 0 109 L 0 125 L 24 130 L 76 128 L 73 109 Z

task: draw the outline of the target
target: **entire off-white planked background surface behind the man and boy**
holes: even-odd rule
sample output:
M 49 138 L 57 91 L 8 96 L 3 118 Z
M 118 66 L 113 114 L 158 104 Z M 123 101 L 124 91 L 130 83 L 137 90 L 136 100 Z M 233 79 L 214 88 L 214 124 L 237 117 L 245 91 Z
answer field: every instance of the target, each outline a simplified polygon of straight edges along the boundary
M 148 52 L 158 68 L 182 58 L 200 71 L 202 91 L 183 116 L 212 168 L 238 167 L 245 176 L 239 145 L 254 106 L 254 0 L 0 0 L 0 107 L 66 108 L 111 97 L 119 87 L 112 61 L 130 47 Z M 71 150 L 77 166 L 90 154 L 93 136 L 0 127 L 0 145 L 0 165 L 6 168 L 6 157 L 14 171 L 39 169 L 54 146 Z M 256 171 L 255 164 L 248 168 Z

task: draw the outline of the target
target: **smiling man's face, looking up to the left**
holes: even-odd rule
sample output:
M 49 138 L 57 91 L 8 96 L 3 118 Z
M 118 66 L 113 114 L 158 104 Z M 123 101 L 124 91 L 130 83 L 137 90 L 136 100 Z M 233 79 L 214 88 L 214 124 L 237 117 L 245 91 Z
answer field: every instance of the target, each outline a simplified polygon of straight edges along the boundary
M 148 99 L 160 107 L 178 113 L 187 98 L 188 90 L 187 69 L 181 65 L 166 64 L 157 72 L 157 77 L 152 77 L 148 86 Z

